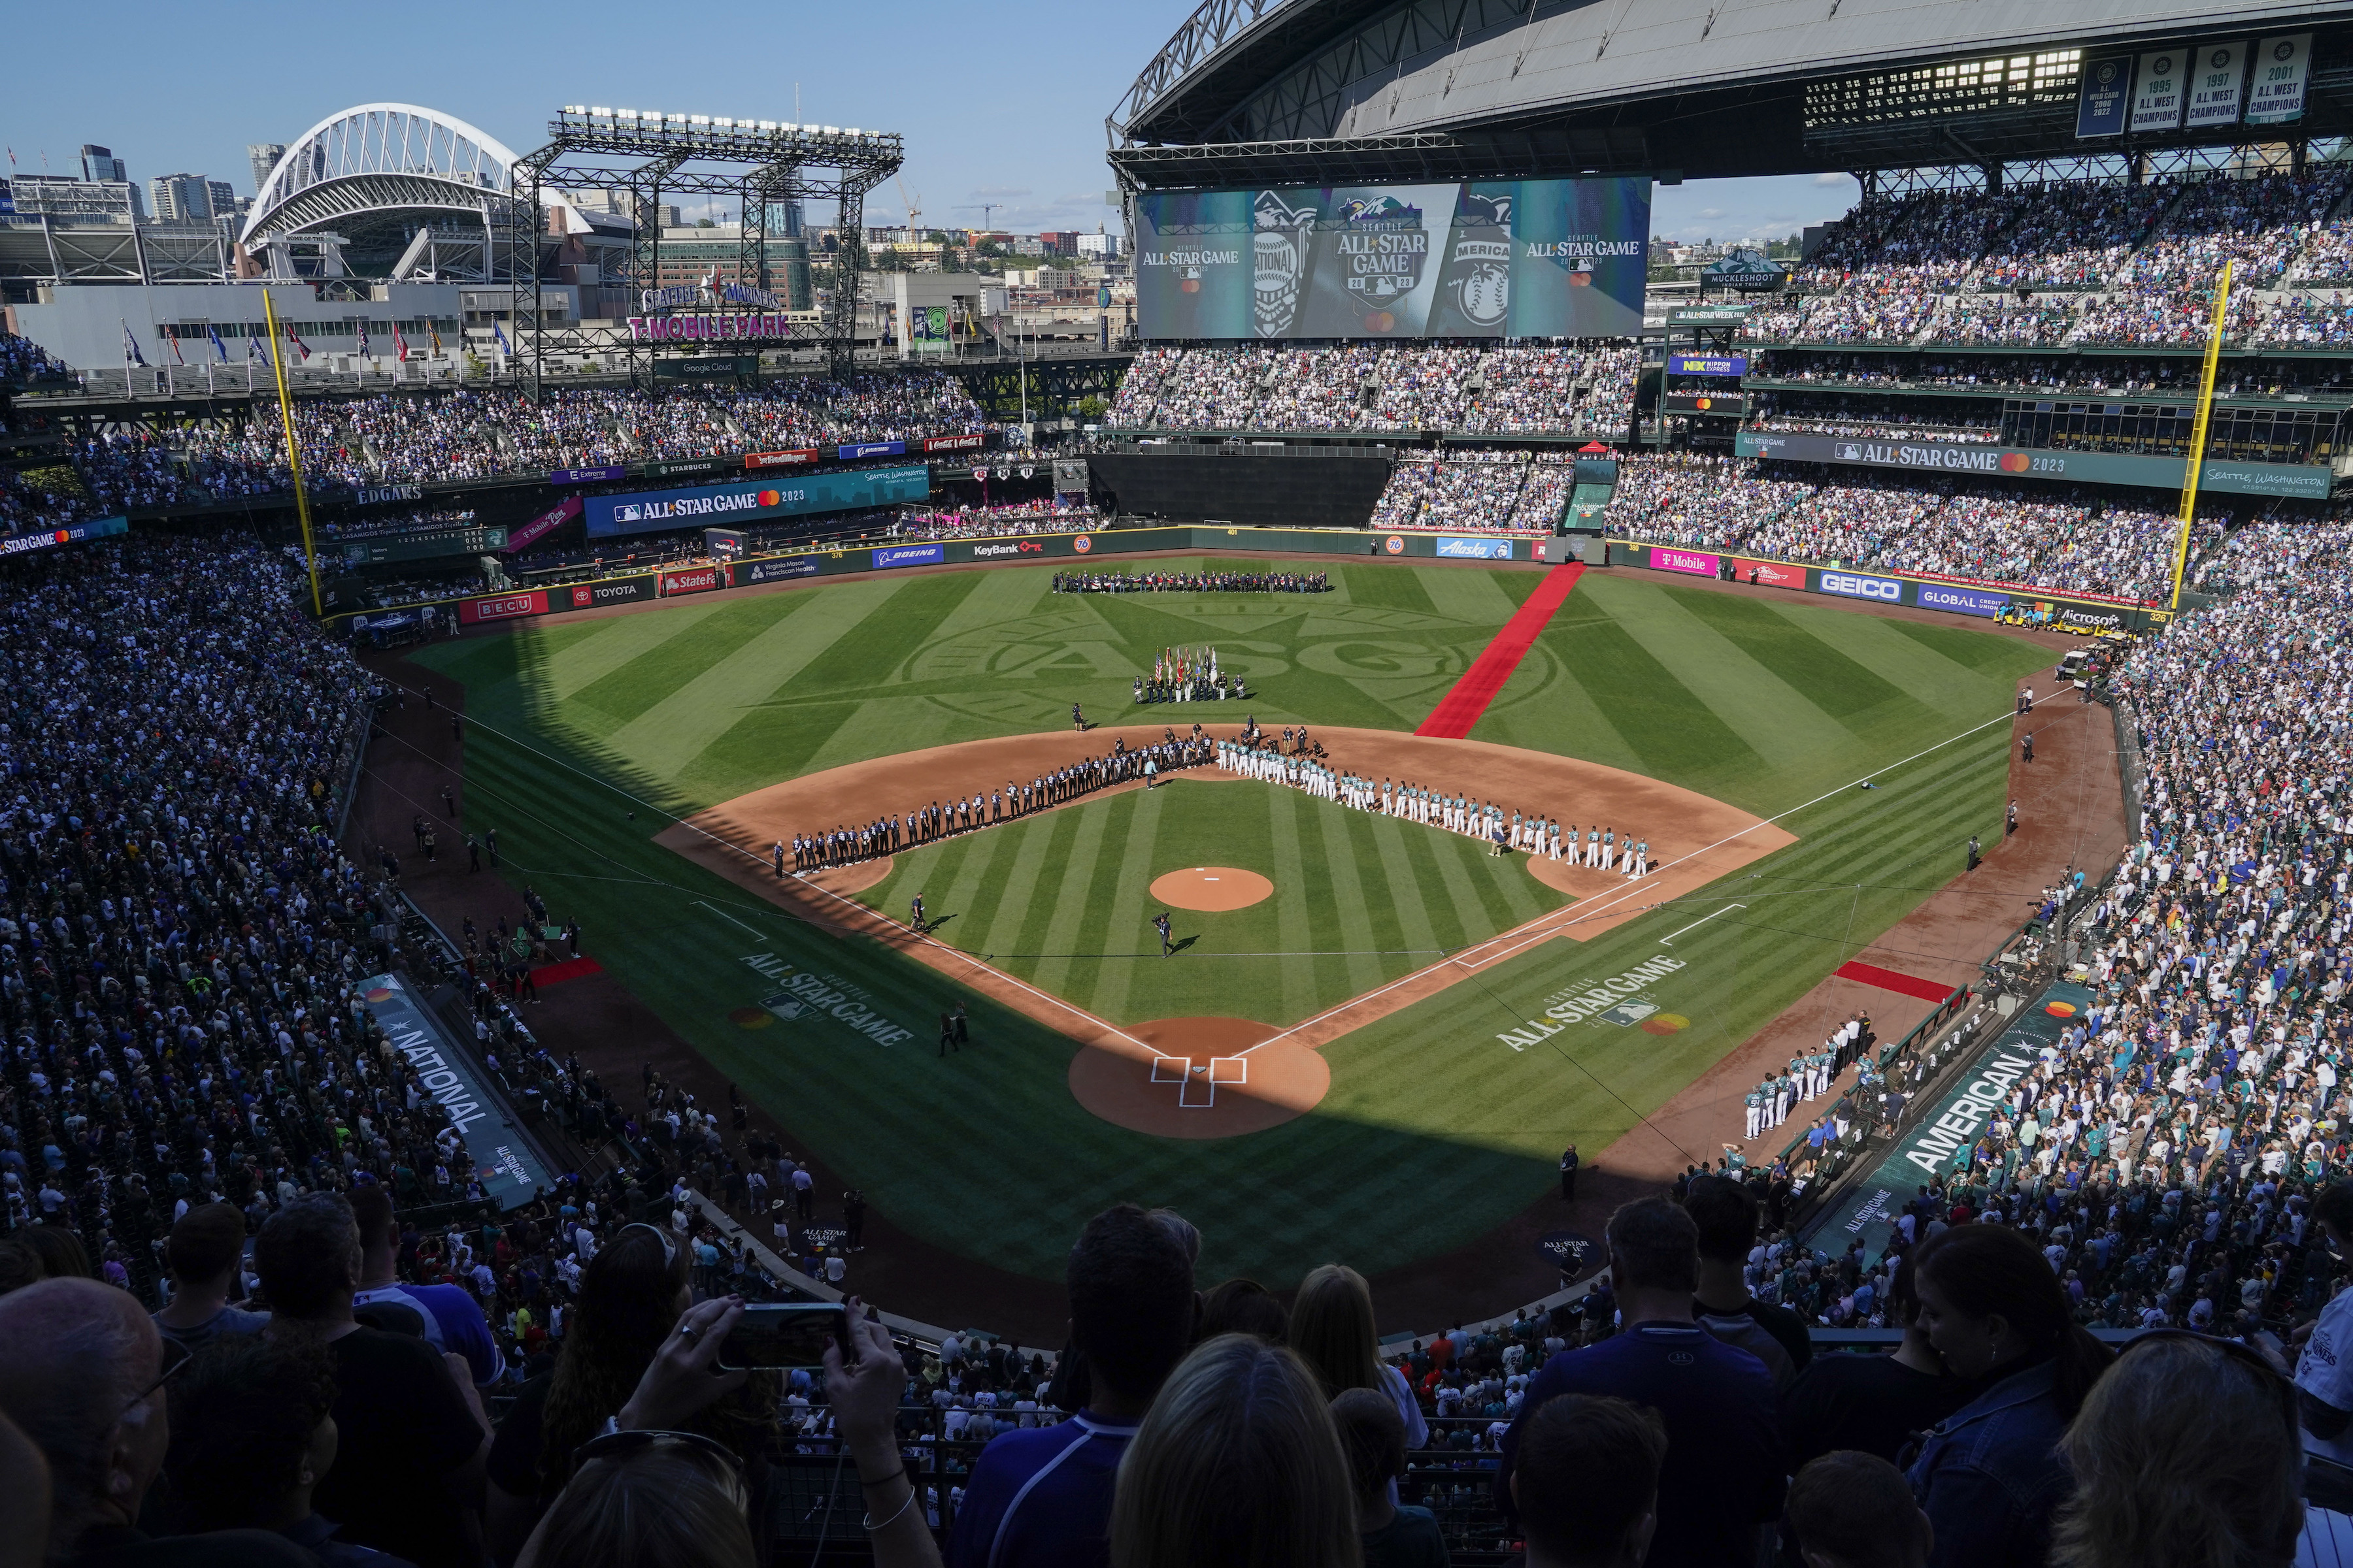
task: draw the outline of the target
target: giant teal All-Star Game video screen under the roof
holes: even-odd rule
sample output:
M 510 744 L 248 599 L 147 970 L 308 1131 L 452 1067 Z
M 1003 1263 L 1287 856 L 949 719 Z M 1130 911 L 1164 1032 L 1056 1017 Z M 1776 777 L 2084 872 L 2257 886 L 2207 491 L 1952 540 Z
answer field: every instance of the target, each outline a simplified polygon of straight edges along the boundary
M 1151 190 L 1146 339 L 1617 339 L 1642 329 L 1647 179 Z

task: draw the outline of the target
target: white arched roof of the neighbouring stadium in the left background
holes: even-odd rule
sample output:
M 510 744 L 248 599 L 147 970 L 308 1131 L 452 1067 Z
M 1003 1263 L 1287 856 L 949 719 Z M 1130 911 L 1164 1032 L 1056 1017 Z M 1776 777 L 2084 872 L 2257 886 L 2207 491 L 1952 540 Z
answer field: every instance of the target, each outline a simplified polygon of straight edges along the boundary
M 238 244 L 435 214 L 487 226 L 513 197 L 513 169 L 515 153 L 464 120 L 416 103 L 360 103 L 287 146 Z

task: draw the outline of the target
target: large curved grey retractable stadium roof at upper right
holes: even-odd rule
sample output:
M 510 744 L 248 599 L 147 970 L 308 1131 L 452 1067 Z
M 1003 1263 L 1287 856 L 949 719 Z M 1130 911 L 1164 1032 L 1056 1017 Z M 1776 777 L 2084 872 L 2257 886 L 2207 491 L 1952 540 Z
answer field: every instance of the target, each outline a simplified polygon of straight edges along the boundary
M 1113 110 L 1111 158 L 1146 186 L 1273 174 L 1304 141 L 1367 176 L 2066 158 L 2118 150 L 2073 141 L 2085 56 L 2304 31 L 2292 134 L 2353 132 L 2344 0 L 1207 0 Z

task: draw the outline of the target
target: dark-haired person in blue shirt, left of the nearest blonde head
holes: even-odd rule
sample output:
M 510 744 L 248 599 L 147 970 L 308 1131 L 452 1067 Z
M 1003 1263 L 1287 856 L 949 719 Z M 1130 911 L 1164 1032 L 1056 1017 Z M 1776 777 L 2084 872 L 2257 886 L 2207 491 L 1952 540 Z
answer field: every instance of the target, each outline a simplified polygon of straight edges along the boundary
M 948 1568 L 1111 1563 L 1120 1458 L 1200 1314 L 1193 1255 L 1160 1215 L 1118 1204 L 1087 1220 L 1064 1284 L 1087 1403 L 1056 1427 L 1005 1432 L 981 1450 L 948 1535 Z

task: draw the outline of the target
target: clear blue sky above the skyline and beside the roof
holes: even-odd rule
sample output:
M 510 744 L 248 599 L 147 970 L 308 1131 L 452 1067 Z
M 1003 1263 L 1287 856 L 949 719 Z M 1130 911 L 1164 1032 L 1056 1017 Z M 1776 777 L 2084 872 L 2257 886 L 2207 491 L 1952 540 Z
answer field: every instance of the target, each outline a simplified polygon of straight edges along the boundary
M 78 172 L 111 146 L 134 181 L 226 179 L 254 193 L 245 143 L 294 141 L 339 108 L 424 103 L 518 153 L 560 103 L 894 129 L 927 223 L 1094 228 L 1104 115 L 1193 0 L 1075 5 L 647 7 L 609 0 L 409 0 L 400 7 L 118 0 L 94 12 L 16 5 L 0 141 L 16 172 Z M 1659 190 L 1657 233 L 1786 235 L 1854 202 L 1854 181 L 1715 181 Z M 885 186 L 868 221 L 899 221 Z M 814 214 L 812 214 L 814 216 Z

